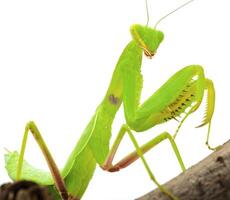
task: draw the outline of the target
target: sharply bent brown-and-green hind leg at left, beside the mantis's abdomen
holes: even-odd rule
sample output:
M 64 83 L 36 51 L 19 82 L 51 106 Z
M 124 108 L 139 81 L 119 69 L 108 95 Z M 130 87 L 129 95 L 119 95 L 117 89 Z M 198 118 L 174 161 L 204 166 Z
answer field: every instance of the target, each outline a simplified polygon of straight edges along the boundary
M 22 171 L 22 166 L 23 166 L 23 158 L 24 158 L 24 153 L 25 153 L 25 148 L 26 148 L 26 142 L 28 138 L 29 132 L 32 133 L 34 136 L 36 142 L 38 143 L 46 161 L 49 166 L 49 169 L 51 171 L 51 174 L 53 176 L 55 185 L 60 193 L 60 196 L 62 197 L 63 200 L 68 200 L 69 195 L 65 186 L 65 183 L 61 177 L 61 174 L 58 170 L 58 167 L 44 141 L 42 138 L 37 126 L 35 125 L 34 122 L 30 121 L 27 123 L 25 127 L 25 132 L 22 140 L 22 146 L 21 146 L 21 151 L 18 159 L 18 166 L 17 166 L 17 173 L 16 173 L 16 179 L 19 180 L 21 176 L 21 171 Z M 77 200 L 77 199 L 76 199 Z

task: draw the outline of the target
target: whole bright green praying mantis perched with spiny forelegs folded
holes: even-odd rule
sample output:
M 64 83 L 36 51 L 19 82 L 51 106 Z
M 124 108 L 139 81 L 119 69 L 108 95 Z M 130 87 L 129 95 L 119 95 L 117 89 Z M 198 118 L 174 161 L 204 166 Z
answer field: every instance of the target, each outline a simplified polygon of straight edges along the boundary
M 210 149 L 214 149 L 208 144 L 215 104 L 214 86 L 210 79 L 205 78 L 201 66 L 190 65 L 176 72 L 153 95 L 140 104 L 143 85 L 142 56 L 144 54 L 148 58 L 152 58 L 163 41 L 164 34 L 157 30 L 156 26 L 154 28 L 149 27 L 148 23 L 145 26 L 132 25 L 130 32 L 132 40 L 127 44 L 117 62 L 106 94 L 96 108 L 95 114 L 87 124 L 64 168 L 62 170 L 58 169 L 36 124 L 31 121 L 25 127 L 20 153 L 9 152 L 5 156 L 6 169 L 13 180 L 31 180 L 46 185 L 57 200 L 79 200 L 94 174 L 96 164 L 105 171 L 115 172 L 140 158 L 149 177 L 159 189 L 171 199 L 178 199 L 157 181 L 144 154 L 160 142 L 168 139 L 182 171 L 185 171 L 184 163 L 174 139 L 186 118 L 199 108 L 206 91 L 206 113 L 203 122 L 198 127 L 208 125 L 206 144 Z M 121 126 L 110 148 L 111 126 L 121 104 L 124 107 L 126 124 Z M 177 120 L 177 117 L 182 114 L 185 115 L 173 136 L 168 132 L 163 132 L 146 144 L 138 145 L 133 131 L 144 132 L 171 119 Z M 50 172 L 37 169 L 24 160 L 29 133 L 32 133 L 40 146 Z M 117 149 L 125 134 L 132 141 L 135 151 L 113 164 Z

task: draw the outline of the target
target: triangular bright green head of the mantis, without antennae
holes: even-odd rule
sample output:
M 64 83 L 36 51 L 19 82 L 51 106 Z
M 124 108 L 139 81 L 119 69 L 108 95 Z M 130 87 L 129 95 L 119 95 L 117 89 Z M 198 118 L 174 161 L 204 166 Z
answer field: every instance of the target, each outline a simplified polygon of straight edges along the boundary
M 164 39 L 164 34 L 156 29 L 134 24 L 130 28 L 133 40 L 143 49 L 148 58 L 152 58 L 160 43 Z

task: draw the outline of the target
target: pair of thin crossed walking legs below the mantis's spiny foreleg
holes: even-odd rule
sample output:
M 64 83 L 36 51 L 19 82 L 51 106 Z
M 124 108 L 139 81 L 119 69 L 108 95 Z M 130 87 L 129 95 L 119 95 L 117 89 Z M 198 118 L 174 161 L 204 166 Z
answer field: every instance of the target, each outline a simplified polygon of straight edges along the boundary
M 135 151 L 131 152 L 130 154 L 128 154 L 127 156 L 125 156 L 122 160 L 120 160 L 118 163 L 116 163 L 115 165 L 113 165 L 113 159 L 115 157 L 116 151 L 119 147 L 120 142 L 122 141 L 125 133 L 127 133 L 135 147 Z M 154 139 L 150 140 L 149 142 L 147 142 L 146 144 L 144 144 L 143 146 L 139 147 L 134 135 L 131 132 L 131 129 L 129 128 L 129 126 L 127 125 L 123 125 L 119 131 L 119 134 L 111 148 L 111 151 L 106 159 L 106 161 L 104 162 L 104 164 L 101 166 L 102 169 L 106 170 L 106 171 L 110 171 L 110 172 L 115 172 L 115 171 L 119 171 L 122 168 L 125 168 L 127 166 L 129 166 L 130 164 L 132 164 L 133 162 L 135 162 L 137 159 L 141 159 L 143 162 L 143 165 L 146 169 L 146 171 L 148 172 L 149 177 L 151 178 L 151 180 L 158 186 L 158 188 L 165 193 L 166 195 L 168 195 L 171 199 L 173 200 L 177 200 L 178 198 L 175 197 L 170 191 L 168 191 L 166 188 L 164 188 L 155 178 L 155 176 L 153 175 L 146 159 L 144 158 L 144 155 L 146 152 L 148 152 L 149 150 L 151 150 L 154 146 L 156 146 L 157 144 L 159 144 L 160 142 L 162 142 L 163 140 L 168 139 L 172 145 L 172 148 L 174 150 L 174 153 L 177 157 L 177 160 L 180 164 L 180 167 L 182 169 L 182 171 L 185 171 L 185 166 L 184 163 L 182 161 L 181 155 L 179 153 L 179 150 L 177 148 L 177 145 L 174 141 L 174 139 L 172 138 L 172 136 L 167 133 L 167 132 L 163 132 L 160 135 L 158 135 L 157 137 L 155 137 Z

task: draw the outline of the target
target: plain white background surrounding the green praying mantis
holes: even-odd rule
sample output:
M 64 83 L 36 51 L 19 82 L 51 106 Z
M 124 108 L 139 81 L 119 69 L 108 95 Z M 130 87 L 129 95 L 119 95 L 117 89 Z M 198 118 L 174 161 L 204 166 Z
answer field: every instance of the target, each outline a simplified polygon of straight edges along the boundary
M 149 0 L 150 25 L 182 0 Z M 165 40 L 152 60 L 143 62 L 142 100 L 173 73 L 200 64 L 216 87 L 211 144 L 229 139 L 229 1 L 197 0 L 168 17 L 158 28 Z M 25 123 L 34 120 L 58 165 L 64 165 L 109 84 L 114 66 L 130 41 L 129 27 L 146 23 L 144 0 L 0 1 L 0 183 L 9 180 L 4 147 L 19 149 Z M 204 145 L 207 127 L 195 129 L 204 108 L 191 115 L 177 143 L 187 167 L 211 152 Z M 121 109 L 113 138 L 124 123 Z M 176 121 L 137 134 L 140 143 Z M 29 138 L 26 158 L 47 169 Z M 133 149 L 128 138 L 119 157 Z M 179 174 L 168 142 L 147 155 L 160 182 Z M 97 169 L 84 200 L 131 200 L 155 188 L 141 162 L 119 173 Z

